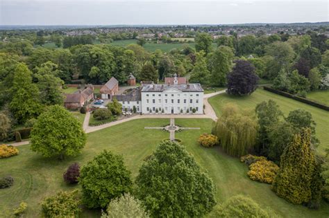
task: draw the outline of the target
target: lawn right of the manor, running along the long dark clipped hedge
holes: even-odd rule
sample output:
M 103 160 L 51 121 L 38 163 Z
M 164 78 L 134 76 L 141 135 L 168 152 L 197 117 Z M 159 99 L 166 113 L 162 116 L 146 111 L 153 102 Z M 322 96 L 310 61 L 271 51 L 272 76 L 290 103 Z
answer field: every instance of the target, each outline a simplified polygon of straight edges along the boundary
M 209 102 L 210 105 L 212 105 L 214 108 L 214 111 L 217 113 L 217 116 L 220 116 L 221 108 L 228 102 L 234 102 L 242 109 L 254 110 L 256 105 L 258 105 L 260 102 L 267 101 L 269 99 L 275 100 L 278 105 L 280 105 L 280 109 L 285 113 L 286 116 L 289 111 L 293 111 L 295 109 L 305 109 L 310 111 L 310 113 L 312 113 L 313 119 L 315 122 L 317 122 L 316 131 L 321 143 L 318 147 L 320 154 L 324 154 L 324 150 L 329 149 L 329 112 L 323 109 L 306 105 L 291 98 L 279 96 L 275 93 L 265 91 L 262 88 L 258 88 L 257 91 L 251 94 L 251 96 L 238 97 L 229 96 L 228 94 L 224 93 L 210 98 Z

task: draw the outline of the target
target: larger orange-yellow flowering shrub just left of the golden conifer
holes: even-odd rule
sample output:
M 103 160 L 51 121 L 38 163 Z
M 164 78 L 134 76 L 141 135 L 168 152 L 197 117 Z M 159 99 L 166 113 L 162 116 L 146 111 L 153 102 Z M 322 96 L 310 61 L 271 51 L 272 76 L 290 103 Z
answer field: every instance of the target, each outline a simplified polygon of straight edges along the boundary
M 276 178 L 278 170 L 278 165 L 272 161 L 260 160 L 249 165 L 248 176 L 251 180 L 271 184 Z

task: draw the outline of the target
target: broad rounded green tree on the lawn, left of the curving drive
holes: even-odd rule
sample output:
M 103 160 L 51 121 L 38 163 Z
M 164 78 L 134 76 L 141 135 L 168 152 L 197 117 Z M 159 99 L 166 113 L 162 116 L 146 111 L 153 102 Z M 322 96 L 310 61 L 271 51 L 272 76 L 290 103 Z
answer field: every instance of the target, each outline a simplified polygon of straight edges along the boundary
M 43 156 L 76 156 L 85 146 L 86 136 L 81 123 L 64 107 L 47 108 L 33 125 L 31 149 Z

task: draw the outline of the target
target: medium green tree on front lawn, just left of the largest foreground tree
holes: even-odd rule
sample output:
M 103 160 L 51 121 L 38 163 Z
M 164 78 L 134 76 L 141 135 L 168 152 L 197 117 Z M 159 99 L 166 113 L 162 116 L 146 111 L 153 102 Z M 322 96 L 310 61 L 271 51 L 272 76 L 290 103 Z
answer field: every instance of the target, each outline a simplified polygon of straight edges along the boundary
M 104 150 L 83 166 L 79 184 L 87 208 L 105 208 L 112 199 L 130 192 L 133 182 L 124 158 Z

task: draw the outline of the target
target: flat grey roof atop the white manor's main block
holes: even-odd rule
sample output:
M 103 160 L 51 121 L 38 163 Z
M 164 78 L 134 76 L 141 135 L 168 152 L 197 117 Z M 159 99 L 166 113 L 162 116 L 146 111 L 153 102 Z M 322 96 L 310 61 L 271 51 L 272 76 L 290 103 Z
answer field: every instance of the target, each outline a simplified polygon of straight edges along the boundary
M 201 87 L 201 84 L 199 83 L 191 83 L 191 84 L 147 84 L 144 85 L 142 91 L 143 92 L 162 92 L 167 89 L 178 89 L 183 92 L 190 92 L 190 91 L 197 91 L 197 92 L 203 92 L 203 89 Z

